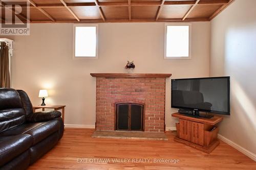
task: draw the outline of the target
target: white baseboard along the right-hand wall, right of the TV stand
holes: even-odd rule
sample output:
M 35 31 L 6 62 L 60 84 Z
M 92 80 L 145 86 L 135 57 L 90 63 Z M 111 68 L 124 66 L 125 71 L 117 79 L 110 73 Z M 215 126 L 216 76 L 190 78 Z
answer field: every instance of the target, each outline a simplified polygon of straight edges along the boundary
M 223 142 L 227 143 L 228 145 L 230 145 L 231 147 L 233 147 L 234 149 L 237 149 L 239 152 L 243 153 L 244 155 L 248 156 L 249 158 L 251 158 L 252 160 L 256 161 L 256 154 L 248 151 L 247 149 L 241 147 L 239 144 L 229 140 L 228 138 L 218 134 L 218 138 L 220 140 L 222 140 Z

